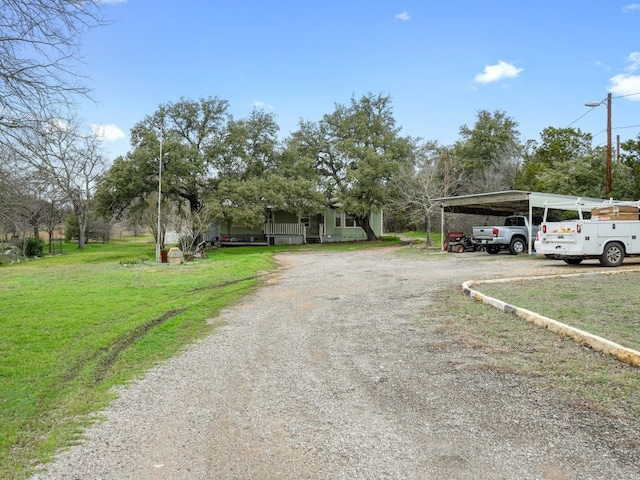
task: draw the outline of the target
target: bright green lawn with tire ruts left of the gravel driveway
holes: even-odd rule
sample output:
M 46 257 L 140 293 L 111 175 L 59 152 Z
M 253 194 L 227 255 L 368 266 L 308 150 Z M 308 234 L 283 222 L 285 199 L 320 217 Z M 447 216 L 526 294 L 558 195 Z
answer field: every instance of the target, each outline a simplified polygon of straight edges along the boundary
M 143 236 L 1 266 L 0 478 L 25 478 L 77 440 L 112 387 L 213 332 L 211 319 L 260 284 L 274 253 L 398 243 L 223 248 L 168 265 Z

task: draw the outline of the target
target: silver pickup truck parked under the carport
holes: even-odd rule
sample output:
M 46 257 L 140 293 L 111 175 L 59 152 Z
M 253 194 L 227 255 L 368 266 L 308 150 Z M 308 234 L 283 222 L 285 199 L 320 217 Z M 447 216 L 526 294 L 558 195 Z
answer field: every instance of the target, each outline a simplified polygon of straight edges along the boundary
M 511 255 L 517 255 L 527 251 L 529 238 L 535 238 L 541 223 L 542 217 L 534 216 L 530 229 L 529 217 L 512 215 L 505 219 L 504 225 L 473 227 L 471 242 L 478 247 L 484 247 L 493 255 L 500 253 L 502 249 L 508 249 Z

